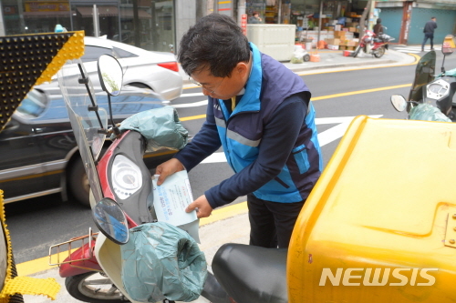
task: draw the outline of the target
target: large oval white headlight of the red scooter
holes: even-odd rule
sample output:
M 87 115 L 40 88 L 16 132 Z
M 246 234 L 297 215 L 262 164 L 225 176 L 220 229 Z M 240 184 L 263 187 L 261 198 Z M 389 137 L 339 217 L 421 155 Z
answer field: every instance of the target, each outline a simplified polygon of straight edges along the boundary
M 120 199 L 126 199 L 142 187 L 140 167 L 128 157 L 118 155 L 112 164 L 112 186 Z

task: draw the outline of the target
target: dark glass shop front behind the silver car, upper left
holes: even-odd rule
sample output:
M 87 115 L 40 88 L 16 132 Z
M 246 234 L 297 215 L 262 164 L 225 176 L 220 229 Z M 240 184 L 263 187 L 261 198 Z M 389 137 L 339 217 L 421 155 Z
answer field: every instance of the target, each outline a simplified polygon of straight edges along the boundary
M 148 50 L 171 51 L 176 44 L 173 0 L 2 0 L 1 7 L 5 35 L 49 33 L 62 25 Z

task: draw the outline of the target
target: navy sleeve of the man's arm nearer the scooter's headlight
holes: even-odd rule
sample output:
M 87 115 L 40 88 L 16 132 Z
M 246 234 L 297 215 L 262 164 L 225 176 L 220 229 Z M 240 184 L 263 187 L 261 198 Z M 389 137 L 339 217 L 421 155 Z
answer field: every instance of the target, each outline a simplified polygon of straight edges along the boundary
M 208 99 L 206 121 L 202 124 L 202 128 L 193 137 L 192 141 L 174 156 L 181 161 L 187 171 L 196 167 L 204 158 L 211 156 L 213 152 L 222 146 L 213 117 L 213 99 Z

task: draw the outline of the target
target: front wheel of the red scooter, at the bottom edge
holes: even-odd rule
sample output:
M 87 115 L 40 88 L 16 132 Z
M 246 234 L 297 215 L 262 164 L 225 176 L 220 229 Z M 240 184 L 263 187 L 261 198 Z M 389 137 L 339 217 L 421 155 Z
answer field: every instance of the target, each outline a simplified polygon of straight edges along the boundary
M 81 275 L 67 277 L 65 287 L 68 293 L 78 300 L 90 303 L 130 302 L 112 281 L 103 273 L 90 271 Z

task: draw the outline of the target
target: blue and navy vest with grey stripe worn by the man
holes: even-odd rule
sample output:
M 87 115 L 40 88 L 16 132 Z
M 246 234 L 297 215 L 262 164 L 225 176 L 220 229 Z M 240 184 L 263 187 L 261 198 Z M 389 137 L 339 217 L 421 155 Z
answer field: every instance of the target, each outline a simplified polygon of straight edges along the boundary
M 308 91 L 300 76 L 270 56 L 261 54 L 254 44 L 250 45 L 252 71 L 244 96 L 233 113 L 230 114 L 223 100 L 213 100 L 213 114 L 223 151 L 234 172 L 241 171 L 258 156 L 264 125 L 277 106 L 288 96 Z M 306 127 L 301 127 L 285 167 L 277 177 L 254 191 L 255 197 L 285 203 L 306 199 L 323 166 L 314 119 L 315 110 L 309 103 L 303 121 Z

